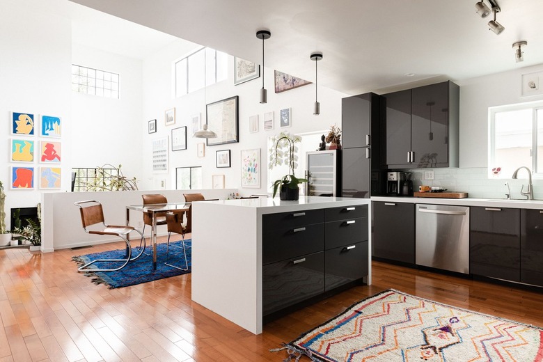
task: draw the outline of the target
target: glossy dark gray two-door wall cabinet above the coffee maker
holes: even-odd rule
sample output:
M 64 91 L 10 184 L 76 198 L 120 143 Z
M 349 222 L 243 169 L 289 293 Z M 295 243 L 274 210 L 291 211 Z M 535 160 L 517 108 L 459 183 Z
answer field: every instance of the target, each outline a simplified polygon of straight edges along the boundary
M 383 166 L 458 167 L 459 86 L 446 81 L 381 97 Z

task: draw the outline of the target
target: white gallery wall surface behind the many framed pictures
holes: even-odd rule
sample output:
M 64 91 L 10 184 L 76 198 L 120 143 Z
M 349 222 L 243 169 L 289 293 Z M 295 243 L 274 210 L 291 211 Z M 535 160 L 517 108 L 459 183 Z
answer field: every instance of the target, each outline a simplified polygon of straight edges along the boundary
M 195 45 L 197 47 L 197 45 Z M 237 86 L 233 81 L 233 58 L 228 64 L 228 79 L 219 84 L 207 87 L 207 90 L 196 91 L 177 99 L 172 95 L 172 62 L 176 58 L 186 55 L 194 49 L 187 49 L 174 43 L 171 47 L 162 49 L 143 61 L 143 182 L 141 189 L 156 188 L 154 180 L 167 178 L 166 189 L 175 188 L 175 167 L 203 166 L 203 188 L 211 188 L 211 176 L 225 175 L 226 188 L 237 188 L 241 184 L 240 153 L 242 150 L 260 148 L 260 189 L 241 189 L 242 194 L 266 194 L 267 185 L 267 138 L 281 131 L 291 133 L 304 133 L 318 129 L 328 129 L 330 125 L 341 123 L 341 98 L 344 93 L 319 87 L 319 100 L 321 102 L 320 116 L 313 115 L 313 102 L 315 102 L 315 85 L 302 86 L 283 93 L 274 93 L 274 70 L 265 68 L 265 88 L 268 90 L 267 104 L 259 103 L 258 91 L 262 87 L 262 78 L 248 81 Z M 312 79 L 308 79 L 312 80 Z M 205 94 L 204 94 L 205 93 Z M 197 157 L 196 144 L 205 142 L 205 139 L 191 137 L 190 116 L 200 113 L 205 122 L 204 104 L 223 100 L 228 97 L 239 96 L 239 143 L 214 145 L 205 147 L 205 157 Z M 204 100 L 205 97 L 205 100 Z M 175 107 L 175 125 L 164 125 L 164 111 Z M 279 127 L 279 111 L 290 107 L 292 109 L 292 127 Z M 263 130 L 263 116 L 265 112 L 274 111 L 274 129 Z M 259 132 L 249 133 L 249 117 L 259 116 Z M 148 134 L 148 120 L 157 119 L 157 133 Z M 170 152 L 170 175 L 152 173 L 151 141 L 164 136 L 170 136 L 171 129 L 187 126 L 187 150 Z M 315 143 L 315 149 L 318 144 Z M 171 149 L 171 146 L 170 146 Z M 216 168 L 215 152 L 217 150 L 231 150 L 230 168 Z M 297 175 L 304 174 L 299 170 Z

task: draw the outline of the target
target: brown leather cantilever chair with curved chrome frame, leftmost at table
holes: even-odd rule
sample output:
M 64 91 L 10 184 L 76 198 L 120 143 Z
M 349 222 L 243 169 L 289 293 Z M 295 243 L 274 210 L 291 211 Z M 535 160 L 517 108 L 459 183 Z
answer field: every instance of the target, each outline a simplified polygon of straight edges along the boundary
M 132 226 L 107 225 L 107 223 L 104 221 L 104 210 L 102 209 L 102 204 L 97 200 L 79 201 L 74 203 L 74 205 L 79 207 L 79 212 L 81 212 L 81 224 L 83 225 L 85 233 L 95 235 L 116 235 L 123 239 L 126 243 L 126 255 L 124 259 L 93 260 L 79 267 L 77 269 L 78 272 L 116 272 L 117 270 L 123 269 L 128 262 L 136 260 L 141 256 L 143 250 L 145 250 L 145 237 L 143 237 L 143 233 L 140 233 L 139 230 L 133 228 Z M 101 228 L 91 228 L 99 223 L 102 223 Z M 141 235 L 140 245 L 143 243 L 143 249 L 141 249 L 140 253 L 135 258 L 132 258 L 132 247 L 130 246 L 130 242 L 127 238 L 127 235 L 132 233 L 132 231 L 136 231 L 136 233 Z M 89 265 L 92 265 L 95 262 L 123 262 L 123 265 L 111 269 L 88 268 Z

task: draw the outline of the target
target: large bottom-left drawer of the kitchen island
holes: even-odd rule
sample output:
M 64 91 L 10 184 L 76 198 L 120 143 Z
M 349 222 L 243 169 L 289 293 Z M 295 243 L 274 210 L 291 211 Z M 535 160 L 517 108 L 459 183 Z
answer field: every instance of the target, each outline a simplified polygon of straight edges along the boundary
M 324 251 L 262 267 L 262 315 L 324 292 Z

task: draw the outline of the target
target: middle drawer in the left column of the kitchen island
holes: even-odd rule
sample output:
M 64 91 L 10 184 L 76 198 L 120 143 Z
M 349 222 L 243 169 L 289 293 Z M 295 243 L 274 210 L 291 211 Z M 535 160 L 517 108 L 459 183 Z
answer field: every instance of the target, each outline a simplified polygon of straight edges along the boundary
M 324 249 L 324 223 L 278 228 L 262 235 L 262 264 Z

